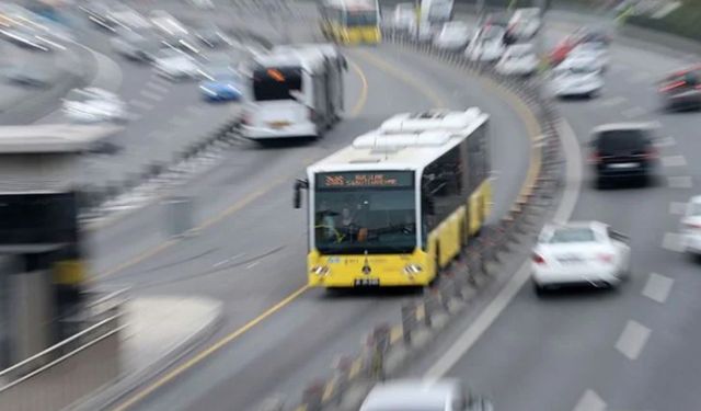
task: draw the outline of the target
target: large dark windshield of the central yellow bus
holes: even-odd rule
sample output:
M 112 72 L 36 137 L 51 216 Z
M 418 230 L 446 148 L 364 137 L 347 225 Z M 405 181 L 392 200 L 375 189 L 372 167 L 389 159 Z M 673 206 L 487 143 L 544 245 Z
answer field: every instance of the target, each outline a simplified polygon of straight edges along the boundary
M 390 175 L 386 178 L 389 180 L 375 180 L 365 186 L 343 182 L 333 186 L 318 184 L 314 237 L 319 252 L 411 253 L 416 248 L 413 172 L 394 173 L 404 175 L 394 180 Z

